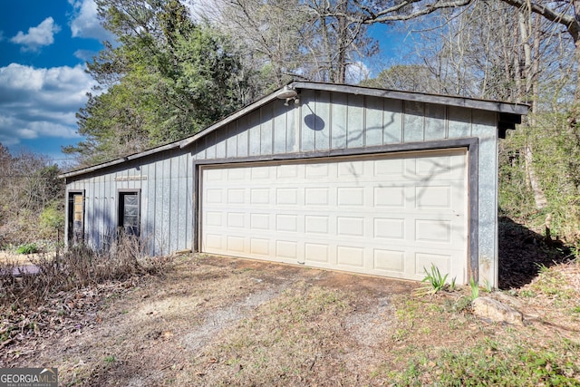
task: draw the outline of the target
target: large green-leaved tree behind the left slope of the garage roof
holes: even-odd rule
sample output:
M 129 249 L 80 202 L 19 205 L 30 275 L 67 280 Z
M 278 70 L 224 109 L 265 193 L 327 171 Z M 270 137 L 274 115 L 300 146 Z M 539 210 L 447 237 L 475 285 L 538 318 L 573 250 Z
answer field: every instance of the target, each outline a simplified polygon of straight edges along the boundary
M 189 136 L 245 102 L 246 79 L 227 37 L 194 24 L 179 0 L 98 0 L 118 37 L 88 72 L 99 82 L 77 114 L 86 140 L 63 149 L 83 164 Z

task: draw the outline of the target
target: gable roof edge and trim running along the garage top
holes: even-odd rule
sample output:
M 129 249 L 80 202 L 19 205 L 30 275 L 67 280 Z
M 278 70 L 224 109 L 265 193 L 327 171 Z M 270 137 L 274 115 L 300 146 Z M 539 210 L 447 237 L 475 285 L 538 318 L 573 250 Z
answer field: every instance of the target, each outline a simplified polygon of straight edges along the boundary
M 75 169 L 70 172 L 63 173 L 60 178 L 70 178 L 73 176 L 82 175 L 84 173 L 89 173 L 95 170 L 108 168 L 111 166 L 119 165 L 129 160 L 136 160 L 142 157 L 150 156 L 151 154 L 159 153 L 166 150 L 172 149 L 183 149 L 207 136 L 209 133 L 224 127 L 232 121 L 236 121 L 238 118 L 248 114 L 251 111 L 255 111 L 260 107 L 266 105 L 269 102 L 279 99 L 281 92 L 287 89 L 295 90 L 300 92 L 302 89 L 314 90 L 314 91 L 324 91 L 324 92 L 343 92 L 354 95 L 364 95 L 372 97 L 388 98 L 393 100 L 410 101 L 410 102 L 425 102 L 434 103 L 448 106 L 458 106 L 468 109 L 477 109 L 482 111 L 495 111 L 499 114 L 498 119 L 498 131 L 499 136 L 504 137 L 505 132 L 509 129 L 515 129 L 517 123 L 521 123 L 521 116 L 527 114 L 529 105 L 523 103 L 511 103 L 511 102 L 498 102 L 490 100 L 478 100 L 474 98 L 465 97 L 452 97 L 448 95 L 440 94 L 428 94 L 424 92 L 401 92 L 386 89 L 377 89 L 371 87 L 362 86 L 352 86 L 347 84 L 336 84 L 336 83 L 324 83 L 324 82 L 290 82 L 285 87 L 272 92 L 256 102 L 252 102 L 242 109 L 233 112 L 227 117 L 213 123 L 208 126 L 208 128 L 199 131 L 198 133 L 189 136 L 183 140 L 177 140 L 169 142 L 168 144 L 161 145 L 159 147 L 151 148 L 150 150 L 144 150 L 139 153 L 134 153 L 125 156 L 121 159 L 111 160 L 103 162 L 102 164 L 97 164 L 92 167 L 86 167 L 82 169 Z M 283 98 L 284 99 L 284 98 Z

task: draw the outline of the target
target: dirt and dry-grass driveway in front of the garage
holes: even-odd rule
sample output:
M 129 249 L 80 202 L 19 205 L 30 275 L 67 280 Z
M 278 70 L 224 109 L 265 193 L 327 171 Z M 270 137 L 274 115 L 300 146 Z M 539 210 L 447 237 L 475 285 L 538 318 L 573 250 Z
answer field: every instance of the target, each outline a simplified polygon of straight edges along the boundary
M 179 256 L 165 276 L 67 298 L 56 327 L 3 348 L 0 367 L 57 367 L 63 385 L 389 385 L 418 351 L 580 339 L 577 314 L 546 299 L 502 293 L 526 316 L 513 327 L 461 308 L 468 286 L 432 296 L 420 286 Z

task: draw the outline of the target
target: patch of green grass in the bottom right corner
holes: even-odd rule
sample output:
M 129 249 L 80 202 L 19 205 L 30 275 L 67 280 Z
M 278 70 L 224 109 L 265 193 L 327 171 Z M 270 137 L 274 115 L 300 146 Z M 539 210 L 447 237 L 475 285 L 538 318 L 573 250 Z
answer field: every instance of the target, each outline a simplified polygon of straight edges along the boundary
M 577 386 L 578 343 L 561 341 L 547 348 L 508 347 L 488 340 L 473 348 L 415 353 L 400 371 L 389 371 L 391 385 Z M 427 353 L 428 351 L 425 351 Z

